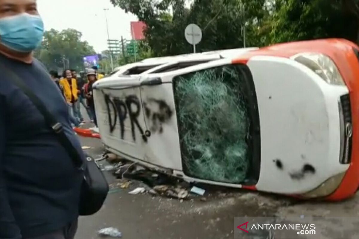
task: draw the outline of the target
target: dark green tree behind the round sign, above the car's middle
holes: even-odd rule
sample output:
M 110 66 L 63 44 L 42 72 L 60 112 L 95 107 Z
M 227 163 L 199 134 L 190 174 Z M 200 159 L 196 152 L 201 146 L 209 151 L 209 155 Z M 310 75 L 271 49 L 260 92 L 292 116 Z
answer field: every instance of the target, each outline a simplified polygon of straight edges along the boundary
M 189 23 L 202 28 L 199 51 L 243 47 L 242 29 L 247 25 L 249 45 L 257 45 L 257 28 L 266 15 L 266 0 L 194 0 L 185 7 L 184 0 L 111 0 L 127 12 L 144 21 L 146 42 L 154 56 L 192 52 L 185 40 L 184 30 Z M 169 9 L 172 9 L 172 13 Z M 264 41 L 264 40 L 262 40 Z

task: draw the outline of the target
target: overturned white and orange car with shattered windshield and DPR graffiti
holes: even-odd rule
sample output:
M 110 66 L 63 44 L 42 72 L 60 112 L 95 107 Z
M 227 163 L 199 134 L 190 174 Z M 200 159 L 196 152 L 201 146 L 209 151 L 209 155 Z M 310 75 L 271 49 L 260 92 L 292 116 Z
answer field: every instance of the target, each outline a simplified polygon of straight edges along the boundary
M 95 83 L 106 148 L 202 182 L 342 200 L 359 186 L 359 48 L 323 39 Z

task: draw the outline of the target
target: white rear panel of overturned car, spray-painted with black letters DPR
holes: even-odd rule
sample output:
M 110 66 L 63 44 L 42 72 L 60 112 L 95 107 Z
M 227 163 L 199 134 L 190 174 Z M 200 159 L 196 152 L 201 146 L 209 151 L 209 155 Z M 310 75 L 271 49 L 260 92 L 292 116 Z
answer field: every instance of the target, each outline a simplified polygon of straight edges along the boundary
M 101 139 L 126 158 L 144 159 L 145 122 L 141 106 L 140 77 L 99 81 L 94 86 L 95 109 Z

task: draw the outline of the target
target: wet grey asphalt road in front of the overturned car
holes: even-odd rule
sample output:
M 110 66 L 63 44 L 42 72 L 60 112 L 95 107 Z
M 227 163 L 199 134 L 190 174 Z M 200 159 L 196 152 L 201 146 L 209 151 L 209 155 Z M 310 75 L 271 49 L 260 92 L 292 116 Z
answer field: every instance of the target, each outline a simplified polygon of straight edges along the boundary
M 98 139 L 81 138 L 81 143 L 93 147 L 86 151 L 95 157 L 103 152 Z M 112 186 L 121 182 L 106 174 Z M 122 232 L 123 239 L 222 239 L 233 238 L 235 216 L 359 216 L 359 193 L 346 201 L 328 203 L 300 202 L 238 190 L 217 192 L 206 201 L 199 197 L 180 202 L 149 194 L 129 195 L 135 187 L 132 184 L 129 188 L 116 190 L 108 195 L 100 212 L 80 218 L 76 238 L 97 239 L 100 238 L 97 235 L 99 229 L 115 227 Z M 335 228 L 338 225 L 328 222 L 327 226 Z M 340 228 L 346 230 L 346 225 Z M 359 238 L 359 235 L 352 238 Z

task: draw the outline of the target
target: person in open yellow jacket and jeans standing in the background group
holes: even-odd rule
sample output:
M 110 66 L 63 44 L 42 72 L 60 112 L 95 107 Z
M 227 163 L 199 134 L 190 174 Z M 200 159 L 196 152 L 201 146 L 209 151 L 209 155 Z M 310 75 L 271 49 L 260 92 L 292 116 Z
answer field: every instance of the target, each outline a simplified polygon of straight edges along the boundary
M 76 107 L 79 92 L 76 79 L 72 77 L 70 70 L 65 70 L 63 77 L 64 78 L 60 80 L 60 85 L 62 86 L 62 89 L 64 89 L 64 95 L 67 104 L 69 104 L 70 114 L 80 123 L 78 108 Z

